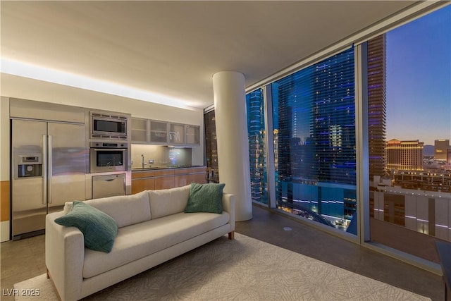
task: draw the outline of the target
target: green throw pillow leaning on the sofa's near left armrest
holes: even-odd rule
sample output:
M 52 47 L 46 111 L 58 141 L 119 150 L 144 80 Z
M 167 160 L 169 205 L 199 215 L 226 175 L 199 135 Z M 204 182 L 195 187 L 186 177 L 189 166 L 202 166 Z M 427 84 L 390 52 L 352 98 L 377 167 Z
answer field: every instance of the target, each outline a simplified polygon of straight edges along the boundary
M 85 202 L 73 202 L 68 214 L 55 219 L 55 223 L 79 228 L 85 247 L 106 253 L 111 252 L 118 234 L 118 224 L 111 216 Z

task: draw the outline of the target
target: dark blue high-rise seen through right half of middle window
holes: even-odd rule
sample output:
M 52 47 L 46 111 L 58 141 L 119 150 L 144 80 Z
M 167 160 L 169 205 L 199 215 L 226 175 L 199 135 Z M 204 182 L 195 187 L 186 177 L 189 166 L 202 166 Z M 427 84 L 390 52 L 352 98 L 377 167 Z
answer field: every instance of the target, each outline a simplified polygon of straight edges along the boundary
M 355 184 L 354 49 L 316 64 L 313 75 L 314 177 Z

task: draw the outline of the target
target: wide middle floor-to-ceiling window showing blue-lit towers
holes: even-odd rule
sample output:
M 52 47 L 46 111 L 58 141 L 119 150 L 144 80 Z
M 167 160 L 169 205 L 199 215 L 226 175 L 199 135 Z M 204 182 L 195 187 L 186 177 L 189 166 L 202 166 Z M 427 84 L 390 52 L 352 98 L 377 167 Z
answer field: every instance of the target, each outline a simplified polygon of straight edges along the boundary
M 354 48 L 271 90 L 277 206 L 346 231 L 357 209 Z

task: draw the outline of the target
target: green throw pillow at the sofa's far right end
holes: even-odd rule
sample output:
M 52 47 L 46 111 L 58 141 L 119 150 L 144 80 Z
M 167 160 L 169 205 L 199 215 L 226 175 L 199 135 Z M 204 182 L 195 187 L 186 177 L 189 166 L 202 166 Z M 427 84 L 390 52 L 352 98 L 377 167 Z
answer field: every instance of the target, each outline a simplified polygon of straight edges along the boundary
M 185 213 L 211 212 L 223 213 L 223 189 L 226 184 L 191 183 L 190 197 L 185 207 Z

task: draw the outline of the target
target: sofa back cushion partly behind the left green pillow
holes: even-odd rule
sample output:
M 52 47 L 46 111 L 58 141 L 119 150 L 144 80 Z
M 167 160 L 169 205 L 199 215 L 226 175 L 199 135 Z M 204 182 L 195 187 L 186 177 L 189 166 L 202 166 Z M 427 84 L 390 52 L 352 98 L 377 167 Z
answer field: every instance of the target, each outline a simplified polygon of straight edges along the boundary
M 135 195 L 89 199 L 86 203 L 115 219 L 119 228 L 150 220 L 149 194 L 145 191 Z

